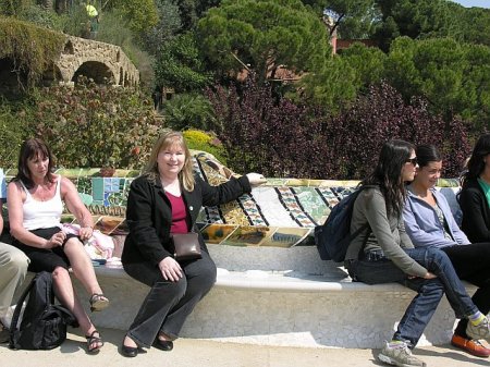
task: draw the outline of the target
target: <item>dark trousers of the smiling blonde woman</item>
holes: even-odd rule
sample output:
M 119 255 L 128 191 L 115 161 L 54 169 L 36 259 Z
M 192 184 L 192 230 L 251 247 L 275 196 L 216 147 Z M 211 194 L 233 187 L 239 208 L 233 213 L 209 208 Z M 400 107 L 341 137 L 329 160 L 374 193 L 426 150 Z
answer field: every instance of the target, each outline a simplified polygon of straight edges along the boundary
M 149 262 L 124 265 L 131 277 L 151 286 L 127 331 L 139 346 L 151 346 L 160 332 L 179 338 L 185 319 L 216 282 L 216 265 L 206 252 L 201 259 L 182 262 L 181 267 L 184 277 L 171 282 Z

